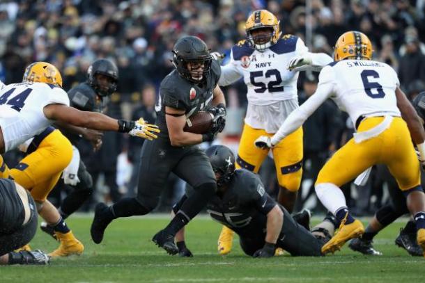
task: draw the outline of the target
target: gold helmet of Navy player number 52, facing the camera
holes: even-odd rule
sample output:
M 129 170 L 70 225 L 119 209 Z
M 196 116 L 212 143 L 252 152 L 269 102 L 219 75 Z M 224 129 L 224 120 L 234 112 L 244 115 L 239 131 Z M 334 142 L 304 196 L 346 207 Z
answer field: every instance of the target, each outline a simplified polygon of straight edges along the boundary
M 270 35 L 252 35 L 252 31 L 256 29 L 271 29 Z M 280 37 L 279 20 L 268 10 L 256 10 L 249 15 L 245 23 L 245 31 L 247 33 L 248 42 L 257 49 L 264 49 L 274 45 Z

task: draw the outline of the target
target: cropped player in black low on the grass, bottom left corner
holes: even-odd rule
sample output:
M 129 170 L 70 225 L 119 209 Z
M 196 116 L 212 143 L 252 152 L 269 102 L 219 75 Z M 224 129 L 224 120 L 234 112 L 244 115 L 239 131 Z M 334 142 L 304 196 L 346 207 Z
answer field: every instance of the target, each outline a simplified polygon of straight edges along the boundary
M 49 263 L 40 250 L 13 252 L 36 234 L 37 215 L 28 191 L 11 179 L 0 179 L 0 265 Z

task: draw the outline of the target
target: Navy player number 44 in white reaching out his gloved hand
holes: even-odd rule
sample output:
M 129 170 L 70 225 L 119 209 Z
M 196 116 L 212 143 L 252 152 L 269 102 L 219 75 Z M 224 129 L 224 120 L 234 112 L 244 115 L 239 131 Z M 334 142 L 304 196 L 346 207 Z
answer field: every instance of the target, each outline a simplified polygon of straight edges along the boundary
M 72 235 L 47 195 L 72 156 L 72 146 L 60 131 L 49 127 L 54 121 L 98 130 L 128 132 L 132 136 L 156 138 L 156 126 L 143 120 L 115 120 L 100 113 L 69 107 L 61 88 L 59 70 L 49 63 L 36 62 L 26 68 L 23 82 L 2 85 L 0 89 L 0 153 L 15 149 L 32 138 L 29 153 L 16 168 L 8 170 L 1 159 L 0 177 L 13 177 L 39 204 L 38 211 L 49 225 L 57 228 L 61 245 L 52 257 L 81 254 L 84 247 Z M 49 130 L 51 129 L 51 130 Z M 28 151 L 27 151 L 28 152 Z

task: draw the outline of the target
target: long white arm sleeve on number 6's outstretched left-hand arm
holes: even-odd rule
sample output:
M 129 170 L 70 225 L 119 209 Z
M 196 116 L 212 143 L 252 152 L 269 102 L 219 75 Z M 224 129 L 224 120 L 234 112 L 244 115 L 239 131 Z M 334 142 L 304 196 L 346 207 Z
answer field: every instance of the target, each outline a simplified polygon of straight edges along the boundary
M 323 102 L 332 95 L 333 90 L 333 70 L 332 67 L 327 67 L 320 72 L 318 88 L 316 92 L 314 92 L 314 95 L 311 95 L 306 102 L 295 109 L 295 111 L 286 118 L 284 124 L 281 125 L 277 133 L 272 136 L 272 145 L 277 145 L 282 139 L 301 127 L 305 120 L 316 111 L 320 104 L 323 104 Z

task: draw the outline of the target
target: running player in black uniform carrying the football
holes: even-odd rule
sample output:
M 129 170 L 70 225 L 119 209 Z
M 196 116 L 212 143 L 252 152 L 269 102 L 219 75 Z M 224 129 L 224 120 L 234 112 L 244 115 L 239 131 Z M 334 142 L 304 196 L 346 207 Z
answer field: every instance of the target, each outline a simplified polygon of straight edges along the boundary
M 107 225 L 115 218 L 152 211 L 160 199 L 164 182 L 173 172 L 190 184 L 194 193 L 153 241 L 176 254 L 174 235 L 215 195 L 214 172 L 208 157 L 197 145 L 213 140 L 224 128 L 226 106 L 223 92 L 217 86 L 220 66 L 217 60 L 212 60 L 205 42 L 194 36 L 185 36 L 176 42 L 173 64 L 176 70 L 162 80 L 156 105 L 156 124 L 161 133 L 157 140 L 144 143 L 141 149 L 137 197 L 123 198 L 111 207 L 102 203 L 96 206 L 91 225 L 95 243 L 102 241 Z M 210 111 L 214 115 L 210 130 L 206 134 L 183 131 L 186 119 L 199 111 Z

